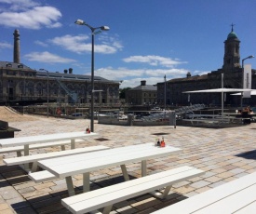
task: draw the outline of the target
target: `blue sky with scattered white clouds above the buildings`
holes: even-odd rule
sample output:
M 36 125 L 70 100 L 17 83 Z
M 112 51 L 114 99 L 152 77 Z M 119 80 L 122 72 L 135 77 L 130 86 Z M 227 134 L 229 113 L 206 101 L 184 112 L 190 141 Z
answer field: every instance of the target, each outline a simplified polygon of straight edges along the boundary
M 13 61 L 20 31 L 20 61 L 32 69 L 90 74 L 93 27 L 95 75 L 136 87 L 207 74 L 222 68 L 224 40 L 236 24 L 241 59 L 256 55 L 255 0 L 0 0 L 0 60 Z M 256 58 L 246 60 L 256 69 Z

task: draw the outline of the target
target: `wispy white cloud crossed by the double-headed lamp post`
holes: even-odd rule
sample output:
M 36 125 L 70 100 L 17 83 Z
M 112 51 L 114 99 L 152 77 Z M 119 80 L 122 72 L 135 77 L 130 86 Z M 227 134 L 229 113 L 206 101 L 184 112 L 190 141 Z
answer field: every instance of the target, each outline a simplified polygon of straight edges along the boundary
M 83 53 L 83 52 L 91 52 L 91 43 L 90 37 L 86 34 L 78 34 L 78 35 L 71 35 L 66 34 L 63 36 L 58 36 L 53 39 L 48 40 L 50 43 L 60 46 L 64 49 L 75 53 Z M 117 44 L 116 41 L 113 43 L 103 43 L 103 44 L 95 44 L 94 45 L 94 52 L 95 53 L 103 53 L 103 54 L 113 54 L 118 49 L 121 48 L 121 45 Z

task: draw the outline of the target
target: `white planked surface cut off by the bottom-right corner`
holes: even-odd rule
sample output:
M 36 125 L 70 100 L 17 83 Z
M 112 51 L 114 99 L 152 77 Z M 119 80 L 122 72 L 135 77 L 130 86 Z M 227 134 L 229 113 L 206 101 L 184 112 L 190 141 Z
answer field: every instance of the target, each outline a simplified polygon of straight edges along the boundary
M 255 213 L 255 178 L 256 172 L 159 209 L 154 214 Z

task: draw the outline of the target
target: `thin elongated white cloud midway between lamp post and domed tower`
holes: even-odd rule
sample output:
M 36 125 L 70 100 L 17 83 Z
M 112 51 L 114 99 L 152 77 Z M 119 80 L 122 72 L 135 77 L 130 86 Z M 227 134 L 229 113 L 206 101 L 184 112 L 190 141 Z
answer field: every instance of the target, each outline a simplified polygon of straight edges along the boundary
M 148 56 L 131 56 L 123 59 L 125 62 L 140 62 L 147 63 L 152 66 L 162 66 L 167 68 L 173 68 L 175 65 L 187 63 L 186 61 L 172 60 L 171 58 L 164 58 L 155 55 Z

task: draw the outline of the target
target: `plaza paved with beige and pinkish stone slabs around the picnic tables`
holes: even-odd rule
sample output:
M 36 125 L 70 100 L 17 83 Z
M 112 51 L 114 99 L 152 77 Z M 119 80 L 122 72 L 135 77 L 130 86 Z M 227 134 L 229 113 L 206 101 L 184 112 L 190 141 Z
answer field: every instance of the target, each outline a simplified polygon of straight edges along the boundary
M 156 199 L 151 194 L 143 194 L 115 204 L 112 213 L 151 213 L 256 171 L 256 123 L 224 128 L 173 128 L 118 127 L 95 122 L 95 132 L 99 133 L 99 136 L 79 143 L 77 147 L 106 145 L 114 148 L 145 142 L 153 143 L 158 137 L 164 136 L 168 145 L 182 148 L 183 153 L 149 160 L 148 173 L 182 166 L 197 167 L 206 171 L 204 176 L 175 184 L 165 200 Z M 20 128 L 21 131 L 16 133 L 15 137 L 21 137 L 84 131 L 89 123 L 88 119 L 36 117 L 33 121 L 10 122 L 9 126 Z M 58 147 L 47 148 L 34 150 L 32 153 L 58 150 Z M 68 196 L 64 180 L 34 183 L 20 167 L 7 167 L 3 164 L 3 158 L 16 154 L 0 155 L 0 213 L 70 213 L 61 206 L 61 198 Z M 140 163 L 132 163 L 127 167 L 131 177 L 141 176 Z M 91 189 L 124 181 L 118 166 L 94 171 L 90 178 Z M 82 175 L 74 177 L 74 185 L 76 193 L 82 193 Z

